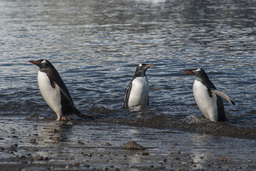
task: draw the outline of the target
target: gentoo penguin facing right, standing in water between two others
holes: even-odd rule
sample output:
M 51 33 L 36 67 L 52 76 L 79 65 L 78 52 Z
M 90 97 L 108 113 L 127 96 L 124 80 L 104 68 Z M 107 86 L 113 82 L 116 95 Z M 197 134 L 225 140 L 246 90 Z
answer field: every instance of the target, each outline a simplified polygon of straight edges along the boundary
M 124 107 L 135 107 L 138 105 L 148 105 L 148 78 L 147 69 L 153 64 L 139 64 L 135 74 L 125 90 Z

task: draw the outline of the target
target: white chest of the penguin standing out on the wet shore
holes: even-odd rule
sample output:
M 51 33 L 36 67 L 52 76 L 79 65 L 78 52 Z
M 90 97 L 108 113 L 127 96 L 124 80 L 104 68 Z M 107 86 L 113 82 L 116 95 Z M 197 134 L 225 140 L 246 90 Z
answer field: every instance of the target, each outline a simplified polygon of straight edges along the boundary
M 62 114 L 60 88 L 58 86 L 52 88 L 47 74 L 42 71 L 38 71 L 37 81 L 40 92 L 47 105 L 49 105 L 56 114 Z

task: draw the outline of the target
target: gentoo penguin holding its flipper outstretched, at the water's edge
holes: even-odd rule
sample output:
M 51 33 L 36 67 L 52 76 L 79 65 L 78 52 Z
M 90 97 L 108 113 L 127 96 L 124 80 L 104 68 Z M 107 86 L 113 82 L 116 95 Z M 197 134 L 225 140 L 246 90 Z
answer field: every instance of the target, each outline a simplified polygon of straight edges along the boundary
M 232 103 L 232 105 L 235 105 L 234 101 L 227 94 L 216 89 L 202 68 L 185 71 L 185 73 L 191 73 L 196 77 L 193 84 L 193 94 L 198 107 L 205 117 L 215 122 L 228 121 L 221 97 Z

